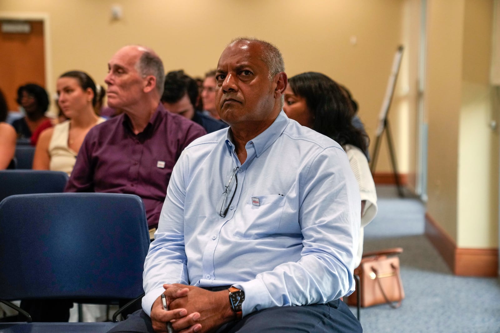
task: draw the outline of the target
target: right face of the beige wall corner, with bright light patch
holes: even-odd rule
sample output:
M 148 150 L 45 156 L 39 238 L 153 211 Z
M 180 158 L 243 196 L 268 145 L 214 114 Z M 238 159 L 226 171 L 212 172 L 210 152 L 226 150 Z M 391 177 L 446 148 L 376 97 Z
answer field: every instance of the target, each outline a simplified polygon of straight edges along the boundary
M 458 148 L 458 232 L 461 248 L 498 245 L 498 133 L 491 118 L 492 1 L 465 1 Z

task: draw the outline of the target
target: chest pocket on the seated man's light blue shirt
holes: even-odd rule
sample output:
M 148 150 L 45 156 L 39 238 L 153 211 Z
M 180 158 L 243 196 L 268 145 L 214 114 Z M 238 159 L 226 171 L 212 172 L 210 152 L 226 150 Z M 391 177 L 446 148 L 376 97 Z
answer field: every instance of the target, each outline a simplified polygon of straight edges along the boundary
M 234 235 L 245 239 L 269 237 L 278 230 L 286 198 L 279 194 L 253 196 L 241 207 Z

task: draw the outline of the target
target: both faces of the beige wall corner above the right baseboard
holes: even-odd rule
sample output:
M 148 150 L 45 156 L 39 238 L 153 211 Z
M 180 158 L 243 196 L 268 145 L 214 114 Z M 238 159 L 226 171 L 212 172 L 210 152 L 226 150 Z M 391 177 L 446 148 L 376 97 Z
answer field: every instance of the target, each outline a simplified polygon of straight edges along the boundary
M 458 248 L 498 246 L 498 134 L 488 126 L 492 4 L 428 1 L 427 212 Z

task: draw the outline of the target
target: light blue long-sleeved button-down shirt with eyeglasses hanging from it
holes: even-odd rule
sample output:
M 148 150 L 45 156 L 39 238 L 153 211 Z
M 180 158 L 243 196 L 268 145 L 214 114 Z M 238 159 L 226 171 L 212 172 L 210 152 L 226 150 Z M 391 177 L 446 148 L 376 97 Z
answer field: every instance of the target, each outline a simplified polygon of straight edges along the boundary
M 144 264 L 143 310 L 150 314 L 164 283 L 233 285 L 245 293 L 243 316 L 352 293 L 360 197 L 342 148 L 281 111 L 247 142 L 240 164 L 229 133 L 196 139 L 173 168 Z M 236 167 L 234 198 L 220 217 Z

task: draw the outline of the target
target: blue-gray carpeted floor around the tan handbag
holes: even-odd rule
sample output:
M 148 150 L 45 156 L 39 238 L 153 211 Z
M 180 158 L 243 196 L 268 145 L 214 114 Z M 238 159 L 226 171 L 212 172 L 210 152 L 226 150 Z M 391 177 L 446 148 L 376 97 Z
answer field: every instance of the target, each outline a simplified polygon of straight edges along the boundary
M 377 186 L 377 196 L 377 216 L 364 229 L 364 251 L 403 248 L 405 299 L 395 310 L 361 308 L 363 332 L 500 333 L 500 279 L 454 276 L 423 235 L 424 205 L 398 198 L 393 186 Z

